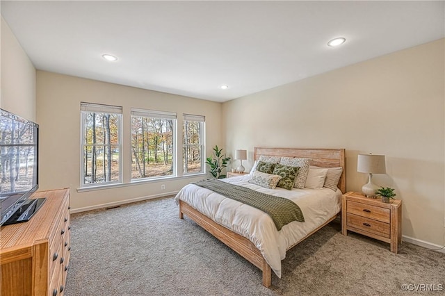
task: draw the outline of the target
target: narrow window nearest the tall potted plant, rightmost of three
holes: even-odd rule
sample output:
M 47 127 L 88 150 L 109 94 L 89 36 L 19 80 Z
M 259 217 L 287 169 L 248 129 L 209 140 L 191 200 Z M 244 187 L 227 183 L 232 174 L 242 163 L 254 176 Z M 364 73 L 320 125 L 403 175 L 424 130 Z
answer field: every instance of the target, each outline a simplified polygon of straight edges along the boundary
M 184 114 L 184 174 L 204 172 L 204 126 L 204 116 Z

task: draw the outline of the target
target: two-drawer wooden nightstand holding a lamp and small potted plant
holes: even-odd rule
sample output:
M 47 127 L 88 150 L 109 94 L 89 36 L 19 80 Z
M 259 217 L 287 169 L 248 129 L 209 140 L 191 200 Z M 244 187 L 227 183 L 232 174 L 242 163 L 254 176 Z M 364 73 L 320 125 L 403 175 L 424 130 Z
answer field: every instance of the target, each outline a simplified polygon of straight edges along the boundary
M 389 204 L 380 197 L 372 199 L 359 192 L 343 195 L 341 204 L 341 233 L 354 231 L 391 244 L 391 252 L 398 252 L 402 242 L 402 201 L 391 199 Z

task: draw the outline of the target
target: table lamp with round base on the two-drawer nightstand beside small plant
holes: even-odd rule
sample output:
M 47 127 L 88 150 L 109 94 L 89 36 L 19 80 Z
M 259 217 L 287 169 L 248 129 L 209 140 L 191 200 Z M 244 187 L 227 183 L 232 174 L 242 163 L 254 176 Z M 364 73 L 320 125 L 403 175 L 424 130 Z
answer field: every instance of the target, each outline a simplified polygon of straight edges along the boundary
M 359 154 L 357 172 L 369 174 L 368 183 L 364 184 L 362 192 L 366 197 L 375 198 L 375 190 L 380 187 L 373 183 L 373 174 L 386 174 L 385 155 Z

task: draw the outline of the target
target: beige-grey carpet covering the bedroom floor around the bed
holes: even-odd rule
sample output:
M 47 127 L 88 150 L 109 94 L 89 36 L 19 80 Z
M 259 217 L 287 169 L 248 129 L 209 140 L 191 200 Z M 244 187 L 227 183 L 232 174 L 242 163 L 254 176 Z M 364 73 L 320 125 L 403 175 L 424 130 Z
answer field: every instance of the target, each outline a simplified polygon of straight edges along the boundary
M 291 249 L 270 288 L 252 264 L 180 220 L 172 197 L 74 214 L 71 225 L 66 296 L 445 294 L 445 254 L 407 242 L 393 254 L 385 242 L 342 236 L 338 222 Z

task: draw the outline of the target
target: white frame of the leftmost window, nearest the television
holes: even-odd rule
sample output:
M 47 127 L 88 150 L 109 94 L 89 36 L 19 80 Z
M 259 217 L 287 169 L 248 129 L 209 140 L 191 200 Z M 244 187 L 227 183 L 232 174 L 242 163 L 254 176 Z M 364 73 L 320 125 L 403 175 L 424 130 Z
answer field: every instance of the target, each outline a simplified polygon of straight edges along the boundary
M 103 183 L 85 183 L 85 170 L 84 170 L 84 154 L 85 154 L 85 148 L 86 148 L 86 143 L 83 142 L 83 140 L 85 139 L 85 131 L 86 131 L 86 127 L 83 125 L 85 123 L 85 115 L 86 113 L 92 113 L 92 112 L 97 112 L 97 113 L 110 113 L 110 114 L 115 114 L 118 115 L 118 149 L 119 149 L 119 176 L 118 176 L 118 181 L 109 181 L 109 182 L 103 182 Z M 88 145 L 90 146 L 90 145 Z M 101 146 L 104 146 L 104 144 L 101 144 Z M 113 144 L 113 146 L 115 146 Z M 94 188 L 94 187 L 104 187 L 104 186 L 111 186 L 111 185 L 115 185 L 115 184 L 119 184 L 122 183 L 122 107 L 121 106 L 111 106 L 111 105 L 105 105 L 105 104 L 94 104 L 94 103 L 86 103 L 86 102 L 81 102 L 81 153 L 80 153 L 80 157 L 81 157 L 81 175 L 80 175 L 80 180 L 81 180 L 81 188 Z

